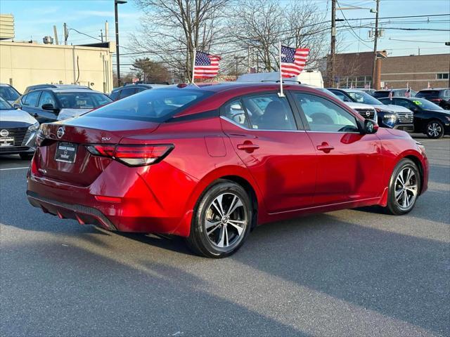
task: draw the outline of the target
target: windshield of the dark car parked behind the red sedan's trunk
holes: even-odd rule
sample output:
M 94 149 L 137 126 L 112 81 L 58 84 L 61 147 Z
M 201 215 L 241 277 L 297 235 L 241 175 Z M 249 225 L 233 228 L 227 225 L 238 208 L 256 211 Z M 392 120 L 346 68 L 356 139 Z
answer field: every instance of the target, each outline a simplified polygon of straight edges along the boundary
M 89 91 L 56 93 L 56 97 L 63 109 L 95 109 L 113 102 L 103 93 L 90 93 Z

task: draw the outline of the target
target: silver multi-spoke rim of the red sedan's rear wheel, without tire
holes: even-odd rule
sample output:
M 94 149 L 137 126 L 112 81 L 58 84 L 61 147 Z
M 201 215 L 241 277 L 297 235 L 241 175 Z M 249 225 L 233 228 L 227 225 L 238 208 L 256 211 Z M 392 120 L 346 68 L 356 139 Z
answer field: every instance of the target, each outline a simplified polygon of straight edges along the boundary
M 236 194 L 216 197 L 205 213 L 205 230 L 213 246 L 229 248 L 240 242 L 248 226 L 248 213 Z

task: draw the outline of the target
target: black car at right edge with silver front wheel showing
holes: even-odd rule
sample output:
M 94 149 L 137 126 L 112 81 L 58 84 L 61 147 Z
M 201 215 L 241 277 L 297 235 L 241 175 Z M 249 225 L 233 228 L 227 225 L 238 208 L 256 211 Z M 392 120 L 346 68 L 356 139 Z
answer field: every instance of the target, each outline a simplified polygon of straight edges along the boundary
M 389 98 L 380 100 L 391 103 Z M 414 113 L 414 132 L 425 133 L 429 138 L 441 138 L 450 134 L 450 112 L 439 105 L 418 97 L 395 97 L 391 104 L 406 107 Z

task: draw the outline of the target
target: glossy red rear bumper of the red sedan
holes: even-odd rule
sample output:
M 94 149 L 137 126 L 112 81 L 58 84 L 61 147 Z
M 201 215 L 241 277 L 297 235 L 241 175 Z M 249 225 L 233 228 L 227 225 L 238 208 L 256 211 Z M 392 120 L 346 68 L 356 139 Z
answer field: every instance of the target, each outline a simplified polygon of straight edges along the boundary
M 188 236 L 192 208 L 187 204 L 197 181 L 173 166 L 129 168 L 113 161 L 83 187 L 46 176 L 34 157 L 27 197 L 45 213 L 105 230 Z

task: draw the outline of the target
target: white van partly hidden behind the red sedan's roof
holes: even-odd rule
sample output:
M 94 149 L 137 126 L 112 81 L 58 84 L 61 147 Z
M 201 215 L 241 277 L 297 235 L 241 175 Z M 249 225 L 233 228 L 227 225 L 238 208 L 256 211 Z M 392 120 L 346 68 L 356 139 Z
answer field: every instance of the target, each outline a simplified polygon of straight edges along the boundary
M 279 81 L 280 72 L 258 72 L 256 74 L 243 74 L 236 79 L 237 82 L 266 82 L 266 81 Z M 317 86 L 323 88 L 323 78 L 321 72 L 317 70 L 306 70 L 295 77 L 283 79 L 283 82 L 299 82 L 301 84 L 309 84 L 310 86 Z

